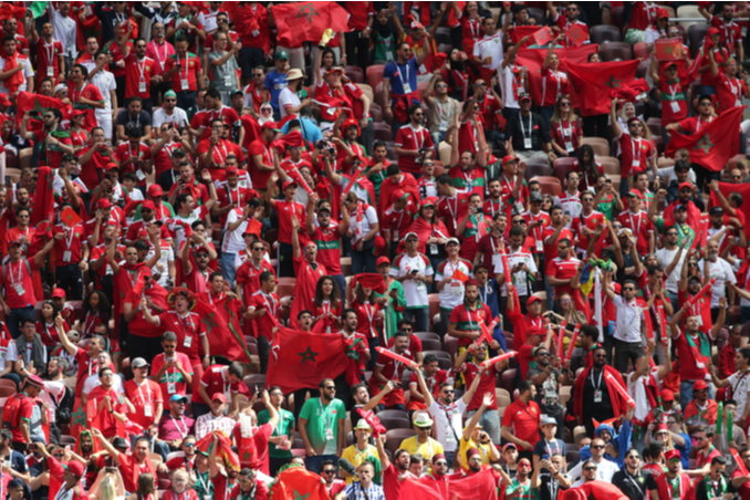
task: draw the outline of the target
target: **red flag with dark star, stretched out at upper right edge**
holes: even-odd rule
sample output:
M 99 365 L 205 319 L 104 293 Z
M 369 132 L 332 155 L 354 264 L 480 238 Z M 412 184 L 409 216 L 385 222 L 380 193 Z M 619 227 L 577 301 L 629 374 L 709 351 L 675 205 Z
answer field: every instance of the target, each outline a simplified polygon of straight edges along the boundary
M 671 131 L 665 156 L 674 157 L 683 147 L 690 152 L 690 163 L 711 171 L 721 171 L 729 158 L 740 152 L 740 123 L 744 106 L 732 107 L 695 134 Z

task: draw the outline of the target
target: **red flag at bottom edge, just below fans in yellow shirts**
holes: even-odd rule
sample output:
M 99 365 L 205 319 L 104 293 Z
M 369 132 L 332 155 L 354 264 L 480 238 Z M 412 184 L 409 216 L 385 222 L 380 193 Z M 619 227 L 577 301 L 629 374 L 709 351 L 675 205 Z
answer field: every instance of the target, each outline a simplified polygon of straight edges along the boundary
M 475 476 L 448 479 L 447 482 L 435 481 L 429 477 L 406 478 L 402 482 L 399 500 L 446 500 L 481 498 L 497 500 L 497 480 L 491 469 Z

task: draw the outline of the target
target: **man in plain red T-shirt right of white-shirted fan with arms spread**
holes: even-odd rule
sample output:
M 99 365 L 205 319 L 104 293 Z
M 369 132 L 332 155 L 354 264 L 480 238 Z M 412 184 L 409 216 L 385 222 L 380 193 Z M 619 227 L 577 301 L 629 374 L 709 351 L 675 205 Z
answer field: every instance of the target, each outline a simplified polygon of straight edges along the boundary
M 539 405 L 534 402 L 537 386 L 531 381 L 523 381 L 518 390 L 518 399 L 511 403 L 502 415 L 502 438 L 518 446 L 519 459 L 533 460 L 542 416 Z

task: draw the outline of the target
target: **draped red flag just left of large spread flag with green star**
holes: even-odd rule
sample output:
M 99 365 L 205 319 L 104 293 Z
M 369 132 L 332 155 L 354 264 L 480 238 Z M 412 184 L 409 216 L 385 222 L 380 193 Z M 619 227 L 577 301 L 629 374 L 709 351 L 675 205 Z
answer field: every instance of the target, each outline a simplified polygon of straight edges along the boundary
M 201 293 L 195 309 L 206 325 L 211 355 L 218 354 L 230 361 L 249 365 L 251 363 L 250 351 L 244 343 L 239 319 L 242 302 L 229 295 L 212 300 L 213 302 L 210 303 L 208 293 Z

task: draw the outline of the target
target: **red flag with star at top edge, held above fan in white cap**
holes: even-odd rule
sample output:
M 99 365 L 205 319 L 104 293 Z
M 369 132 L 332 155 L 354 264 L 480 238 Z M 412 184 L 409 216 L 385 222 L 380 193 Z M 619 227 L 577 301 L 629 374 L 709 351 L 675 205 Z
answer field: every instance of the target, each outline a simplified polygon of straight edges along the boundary
M 271 7 L 277 22 L 280 46 L 300 46 L 302 42 L 317 44 L 326 29 L 335 33 L 352 31 L 348 12 L 334 2 L 299 2 Z

